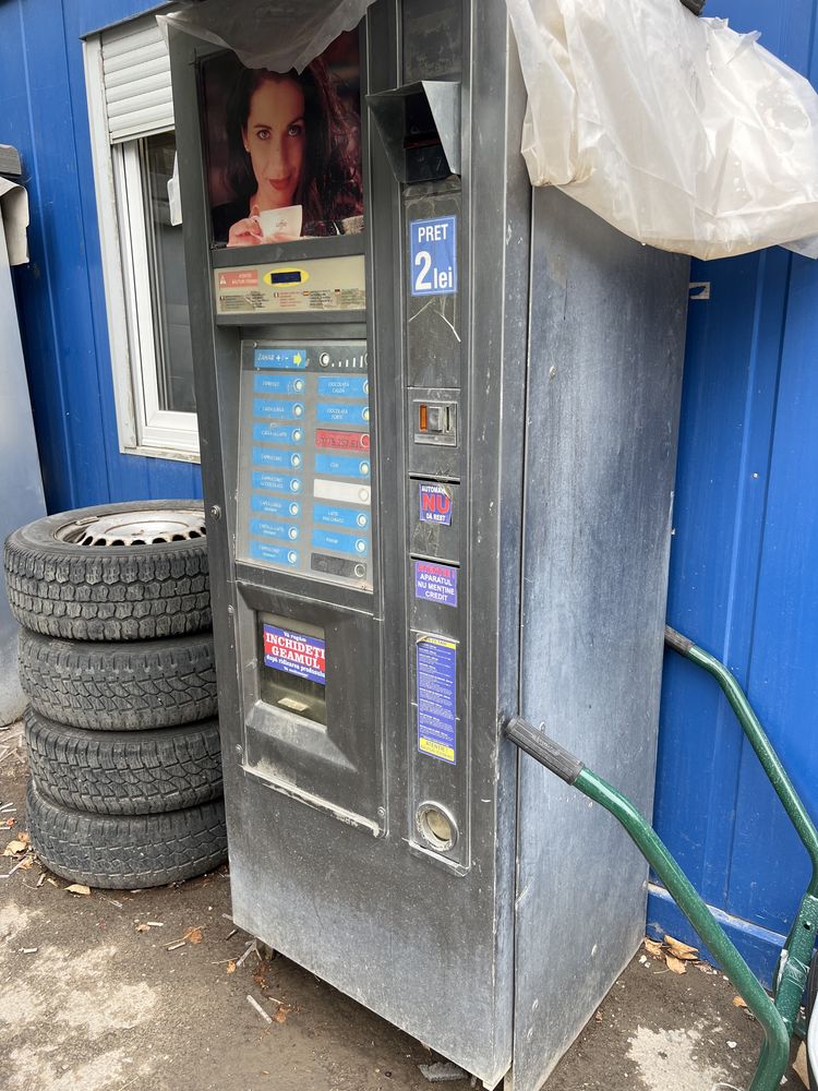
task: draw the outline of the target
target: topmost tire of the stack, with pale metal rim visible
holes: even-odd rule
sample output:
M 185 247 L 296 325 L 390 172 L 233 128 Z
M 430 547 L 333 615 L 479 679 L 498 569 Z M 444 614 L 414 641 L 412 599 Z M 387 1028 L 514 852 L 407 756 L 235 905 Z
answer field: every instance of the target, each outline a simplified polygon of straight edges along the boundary
M 146 640 L 210 626 L 197 501 L 140 501 L 36 519 L 5 540 L 9 603 L 67 640 Z

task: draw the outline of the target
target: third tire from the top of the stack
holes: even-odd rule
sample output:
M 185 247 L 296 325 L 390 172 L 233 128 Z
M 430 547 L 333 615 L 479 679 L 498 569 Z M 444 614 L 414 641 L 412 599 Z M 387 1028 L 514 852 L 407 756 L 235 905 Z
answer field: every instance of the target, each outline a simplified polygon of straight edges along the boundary
M 84 731 L 25 715 L 37 790 L 64 807 L 152 815 L 221 795 L 218 720 L 156 731 Z

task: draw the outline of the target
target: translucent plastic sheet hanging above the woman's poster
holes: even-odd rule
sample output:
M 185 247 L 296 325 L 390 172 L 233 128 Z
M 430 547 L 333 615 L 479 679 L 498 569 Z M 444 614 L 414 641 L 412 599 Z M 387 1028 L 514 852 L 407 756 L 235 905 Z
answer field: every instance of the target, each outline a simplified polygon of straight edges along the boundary
M 194 37 L 228 46 L 248 68 L 301 72 L 342 31 L 358 26 L 373 0 L 202 0 L 156 21 L 167 37 L 178 26 Z

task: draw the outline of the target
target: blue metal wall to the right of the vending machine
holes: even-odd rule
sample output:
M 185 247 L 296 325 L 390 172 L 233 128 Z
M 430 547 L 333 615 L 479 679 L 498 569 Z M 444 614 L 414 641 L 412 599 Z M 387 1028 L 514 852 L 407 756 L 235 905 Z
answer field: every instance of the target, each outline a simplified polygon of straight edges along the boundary
M 707 13 L 761 29 L 815 83 L 813 2 Z M 669 620 L 748 690 L 818 817 L 818 263 L 773 249 L 695 262 L 691 279 Z M 806 854 L 715 684 L 672 654 L 654 818 L 769 982 Z M 648 921 L 693 937 L 661 897 Z

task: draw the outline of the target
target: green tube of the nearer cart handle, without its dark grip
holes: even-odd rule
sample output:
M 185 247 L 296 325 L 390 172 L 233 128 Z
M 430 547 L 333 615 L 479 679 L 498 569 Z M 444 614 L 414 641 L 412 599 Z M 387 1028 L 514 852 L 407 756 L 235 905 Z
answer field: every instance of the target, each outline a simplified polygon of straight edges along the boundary
M 758 1019 L 766 1042 L 749 1091 L 777 1091 L 790 1059 L 790 1033 L 775 1004 L 638 808 L 590 769 L 582 768 L 573 783 L 621 823 Z

